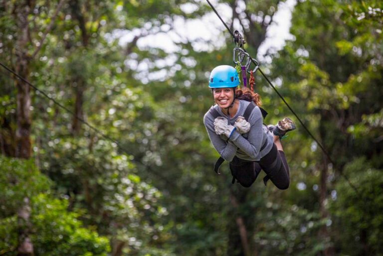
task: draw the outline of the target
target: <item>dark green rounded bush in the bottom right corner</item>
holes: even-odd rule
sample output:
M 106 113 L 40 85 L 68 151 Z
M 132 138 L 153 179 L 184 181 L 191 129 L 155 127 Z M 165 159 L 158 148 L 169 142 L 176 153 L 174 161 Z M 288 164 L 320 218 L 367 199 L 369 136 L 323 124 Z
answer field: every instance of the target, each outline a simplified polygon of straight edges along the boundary
M 342 252 L 348 255 L 382 255 L 383 236 L 383 176 L 365 157 L 346 165 L 345 174 L 357 184 L 358 191 L 346 180 L 335 187 L 337 200 L 330 210 L 341 225 L 342 232 L 335 238 Z

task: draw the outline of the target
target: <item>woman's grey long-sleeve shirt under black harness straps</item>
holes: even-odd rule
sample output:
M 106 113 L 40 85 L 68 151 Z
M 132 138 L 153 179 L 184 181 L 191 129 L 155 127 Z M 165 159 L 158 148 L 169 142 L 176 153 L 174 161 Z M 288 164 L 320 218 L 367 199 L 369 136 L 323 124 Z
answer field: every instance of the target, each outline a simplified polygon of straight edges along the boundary
M 230 118 L 230 125 L 234 125 L 235 119 L 237 119 L 238 116 L 243 116 L 247 105 L 250 104 L 249 101 L 238 101 L 238 110 L 235 116 Z M 213 107 L 221 116 L 227 118 L 218 105 Z M 251 128 L 248 132 L 247 139 L 241 136 L 237 130 L 234 130 L 229 141 L 226 143 L 227 137 L 225 135 L 217 135 L 215 133 L 214 117 L 208 111 L 204 115 L 203 124 L 206 127 L 209 139 L 215 150 L 224 160 L 230 162 L 234 156 L 237 156 L 247 161 L 258 161 L 270 152 L 273 145 L 273 135 L 268 132 L 267 127 L 263 125 L 262 113 L 259 107 L 253 109 L 248 119 L 249 120 L 246 121 L 250 123 Z M 267 146 L 261 151 L 261 147 L 266 140 L 268 141 Z

